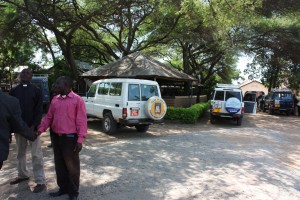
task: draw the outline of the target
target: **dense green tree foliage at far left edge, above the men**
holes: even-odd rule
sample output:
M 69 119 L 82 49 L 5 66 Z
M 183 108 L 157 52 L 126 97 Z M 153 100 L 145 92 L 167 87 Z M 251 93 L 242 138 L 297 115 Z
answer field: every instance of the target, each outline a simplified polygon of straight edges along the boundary
M 30 35 L 35 30 L 22 23 L 24 16 L 13 6 L 0 7 L 0 70 L 6 72 L 10 85 L 13 83 L 13 71 L 20 65 L 32 63 L 35 43 Z

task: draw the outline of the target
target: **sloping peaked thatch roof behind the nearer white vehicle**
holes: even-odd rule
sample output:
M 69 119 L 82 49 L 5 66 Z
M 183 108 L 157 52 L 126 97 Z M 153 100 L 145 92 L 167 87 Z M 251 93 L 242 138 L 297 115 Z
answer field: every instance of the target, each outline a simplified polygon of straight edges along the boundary
M 174 67 L 169 67 L 141 52 L 135 52 L 115 62 L 87 71 L 81 75 L 89 79 L 156 78 L 172 81 L 196 81 Z

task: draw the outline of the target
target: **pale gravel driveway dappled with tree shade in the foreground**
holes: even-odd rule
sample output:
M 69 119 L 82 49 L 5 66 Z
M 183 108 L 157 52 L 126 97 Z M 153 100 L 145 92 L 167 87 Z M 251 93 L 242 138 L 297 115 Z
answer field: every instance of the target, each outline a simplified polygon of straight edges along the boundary
M 300 117 L 247 115 L 241 127 L 166 122 L 147 134 L 132 128 L 114 136 L 89 120 L 81 153 L 80 199 L 300 199 Z M 49 136 L 43 136 L 48 191 L 57 190 Z M 30 159 L 28 159 L 30 160 Z M 30 166 L 30 163 L 28 163 Z M 15 144 L 0 172 L 0 199 L 50 199 L 33 194 L 31 180 L 9 185 Z M 68 199 L 67 196 L 56 198 Z

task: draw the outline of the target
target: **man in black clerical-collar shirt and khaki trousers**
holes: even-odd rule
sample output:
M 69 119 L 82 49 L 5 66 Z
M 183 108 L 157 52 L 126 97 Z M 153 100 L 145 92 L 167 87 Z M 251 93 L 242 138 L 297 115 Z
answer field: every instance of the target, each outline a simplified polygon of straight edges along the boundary
M 43 99 L 40 89 L 30 83 L 32 72 L 30 69 L 23 69 L 20 74 L 21 83 L 10 91 L 10 95 L 19 99 L 22 119 L 34 131 L 40 124 L 43 115 Z M 28 141 L 21 135 L 16 134 L 17 143 L 17 159 L 18 159 L 18 177 L 10 182 L 11 185 L 18 184 L 29 179 L 29 173 L 26 166 L 26 149 Z M 31 159 L 33 175 L 36 186 L 34 193 L 41 192 L 46 189 L 44 160 L 41 147 L 41 140 L 38 137 L 34 142 L 30 142 Z

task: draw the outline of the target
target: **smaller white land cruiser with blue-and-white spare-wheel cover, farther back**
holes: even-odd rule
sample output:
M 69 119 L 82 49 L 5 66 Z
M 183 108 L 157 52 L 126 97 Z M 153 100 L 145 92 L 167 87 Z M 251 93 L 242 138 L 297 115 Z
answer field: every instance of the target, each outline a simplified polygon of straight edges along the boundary
M 218 118 L 229 118 L 236 121 L 237 125 L 242 124 L 245 107 L 252 109 L 249 113 L 256 112 L 256 102 L 243 101 L 243 93 L 238 85 L 217 84 L 212 96 L 210 105 L 210 122 L 216 123 Z

